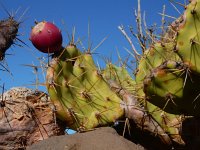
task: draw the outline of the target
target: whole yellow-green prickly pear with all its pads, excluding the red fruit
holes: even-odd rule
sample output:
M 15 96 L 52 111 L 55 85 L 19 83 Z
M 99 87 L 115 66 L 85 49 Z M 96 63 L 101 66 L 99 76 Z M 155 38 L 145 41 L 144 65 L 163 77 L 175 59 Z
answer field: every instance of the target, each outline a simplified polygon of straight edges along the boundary
M 200 116 L 200 0 L 191 0 L 166 34 L 144 51 L 133 79 L 126 67 L 97 69 L 92 55 L 70 44 L 47 70 L 58 118 L 75 130 L 133 119 L 171 144 L 184 144 L 184 116 Z M 142 122 L 143 121 L 143 122 Z

